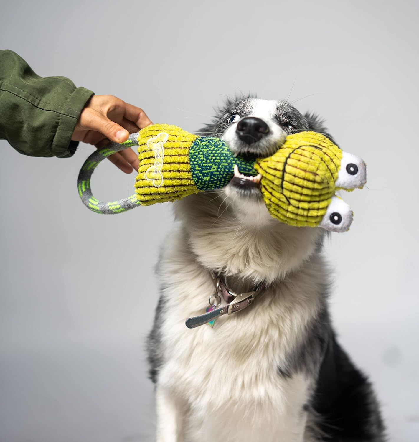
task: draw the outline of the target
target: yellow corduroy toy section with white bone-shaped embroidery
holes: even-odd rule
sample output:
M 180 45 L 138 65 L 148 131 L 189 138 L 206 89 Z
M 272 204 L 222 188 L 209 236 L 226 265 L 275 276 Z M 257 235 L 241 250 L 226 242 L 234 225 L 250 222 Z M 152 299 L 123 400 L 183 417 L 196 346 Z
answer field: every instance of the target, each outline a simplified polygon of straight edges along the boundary
M 189 162 L 189 148 L 196 138 L 197 135 L 171 124 L 153 124 L 141 130 L 135 192 L 142 206 L 198 192 Z

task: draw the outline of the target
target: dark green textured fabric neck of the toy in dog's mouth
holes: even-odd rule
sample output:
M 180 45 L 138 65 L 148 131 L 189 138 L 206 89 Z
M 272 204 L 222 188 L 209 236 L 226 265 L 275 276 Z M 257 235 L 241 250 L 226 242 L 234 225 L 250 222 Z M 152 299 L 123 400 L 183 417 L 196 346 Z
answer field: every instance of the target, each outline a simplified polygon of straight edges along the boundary
M 257 175 L 255 160 L 234 156 L 220 138 L 198 137 L 189 149 L 190 171 L 200 191 L 221 189 L 234 176 L 234 164 L 243 175 Z

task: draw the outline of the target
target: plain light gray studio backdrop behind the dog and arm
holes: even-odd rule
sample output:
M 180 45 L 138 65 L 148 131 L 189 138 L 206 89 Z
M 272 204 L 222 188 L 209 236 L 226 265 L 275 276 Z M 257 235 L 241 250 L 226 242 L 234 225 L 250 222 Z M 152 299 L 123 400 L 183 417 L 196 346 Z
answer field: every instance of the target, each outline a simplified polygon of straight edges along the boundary
M 326 248 L 335 325 L 391 440 L 417 441 L 418 3 L 3 1 L 1 16 L 0 46 L 35 72 L 154 122 L 198 130 L 248 91 L 326 118 L 368 164 L 368 188 L 344 195 L 354 224 Z M 144 341 L 170 204 L 101 217 L 76 191 L 94 148 L 65 160 L 0 148 L 0 442 L 151 441 Z M 96 196 L 125 197 L 134 177 L 107 162 Z

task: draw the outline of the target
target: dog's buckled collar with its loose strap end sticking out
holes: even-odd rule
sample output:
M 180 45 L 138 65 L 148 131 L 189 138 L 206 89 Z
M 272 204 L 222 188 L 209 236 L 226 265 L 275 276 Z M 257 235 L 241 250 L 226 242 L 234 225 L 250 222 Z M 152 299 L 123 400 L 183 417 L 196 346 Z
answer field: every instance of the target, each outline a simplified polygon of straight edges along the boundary
M 207 323 L 212 323 L 211 325 L 213 325 L 213 321 L 219 316 L 240 312 L 240 310 L 251 305 L 255 298 L 263 293 L 266 286 L 264 282 L 261 282 L 250 292 L 236 293 L 229 289 L 216 273 L 211 272 L 211 277 L 215 286 L 215 292 L 209 297 L 210 307 L 206 310 L 206 313 L 188 318 L 185 322 L 187 328 L 195 328 Z M 221 304 L 221 297 L 223 297 L 227 305 L 218 307 Z

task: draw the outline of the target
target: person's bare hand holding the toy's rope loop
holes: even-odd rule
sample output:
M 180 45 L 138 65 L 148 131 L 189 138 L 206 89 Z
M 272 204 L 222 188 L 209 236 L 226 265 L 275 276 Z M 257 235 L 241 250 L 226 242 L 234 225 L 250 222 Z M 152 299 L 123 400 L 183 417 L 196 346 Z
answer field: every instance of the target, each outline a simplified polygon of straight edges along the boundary
M 122 143 L 130 133 L 152 124 L 144 110 L 125 103 L 113 95 L 93 95 L 81 111 L 73 135 L 74 141 L 95 145 L 98 149 L 109 141 Z M 127 148 L 110 155 L 109 160 L 125 173 L 138 170 L 138 156 Z

